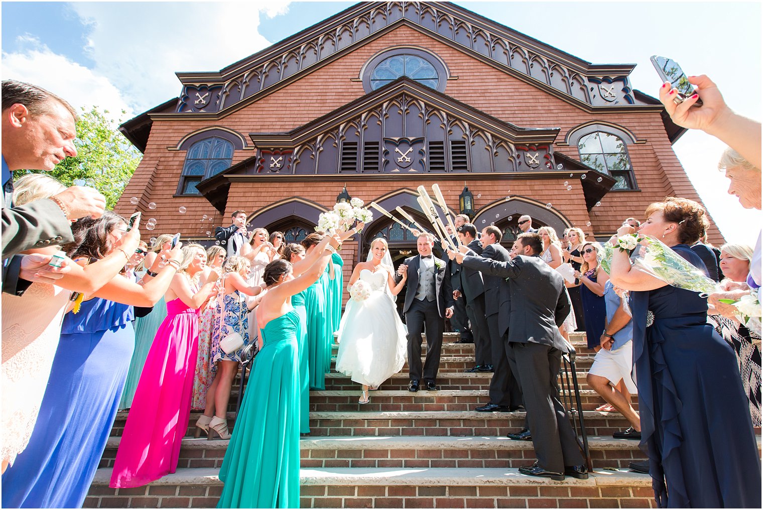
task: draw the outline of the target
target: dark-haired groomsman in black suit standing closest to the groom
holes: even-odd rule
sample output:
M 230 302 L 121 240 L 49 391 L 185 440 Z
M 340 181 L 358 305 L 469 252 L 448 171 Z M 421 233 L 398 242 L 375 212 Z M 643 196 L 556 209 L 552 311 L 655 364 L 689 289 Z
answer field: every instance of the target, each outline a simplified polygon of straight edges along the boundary
M 456 228 L 456 234 L 462 244 L 478 255 L 482 253 L 482 245 L 477 239 L 477 228 L 471 223 L 462 224 Z M 466 314 L 472 323 L 472 334 L 475 337 L 474 367 L 467 372 L 492 372 L 490 331 L 488 320 L 485 318 L 485 283 L 479 271 L 462 267 L 458 286 L 453 286 L 453 299 L 466 300 Z

